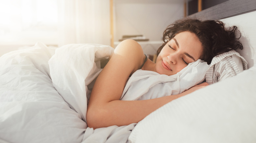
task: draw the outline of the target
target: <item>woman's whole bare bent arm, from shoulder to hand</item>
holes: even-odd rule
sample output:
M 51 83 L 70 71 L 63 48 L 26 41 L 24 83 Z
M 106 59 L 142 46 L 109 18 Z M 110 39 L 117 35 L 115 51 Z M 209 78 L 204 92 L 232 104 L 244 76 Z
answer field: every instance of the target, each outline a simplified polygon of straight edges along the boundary
M 162 105 L 192 91 L 150 100 L 119 100 L 129 75 L 142 65 L 143 58 L 143 51 L 134 40 L 125 40 L 117 46 L 93 87 L 87 109 L 89 127 L 137 123 Z

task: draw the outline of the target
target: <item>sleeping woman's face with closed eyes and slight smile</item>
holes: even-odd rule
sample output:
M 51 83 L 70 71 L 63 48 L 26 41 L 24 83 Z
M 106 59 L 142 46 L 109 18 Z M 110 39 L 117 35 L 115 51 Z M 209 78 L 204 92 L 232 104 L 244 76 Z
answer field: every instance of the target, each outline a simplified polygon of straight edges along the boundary
M 198 60 L 202 52 L 202 43 L 194 33 L 181 32 L 162 48 L 157 57 L 156 72 L 176 74 L 189 63 Z

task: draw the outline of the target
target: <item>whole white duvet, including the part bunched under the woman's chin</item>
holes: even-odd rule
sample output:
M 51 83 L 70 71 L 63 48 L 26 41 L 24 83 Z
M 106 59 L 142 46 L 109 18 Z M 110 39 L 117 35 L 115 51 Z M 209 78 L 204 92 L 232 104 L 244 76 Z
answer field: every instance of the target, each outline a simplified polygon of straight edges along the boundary
M 0 57 L 0 138 L 19 143 L 125 143 L 136 123 L 96 130 L 86 124 L 90 89 L 101 71 L 99 60 L 112 53 L 112 47 L 97 44 L 70 44 L 54 49 L 37 43 Z M 168 78 L 139 70 L 127 82 L 122 100 L 179 94 L 202 82 L 207 68 L 199 60 Z M 192 75 L 182 78 L 182 73 Z M 196 77 L 192 84 L 181 86 L 192 77 Z M 145 81 L 143 90 L 134 86 Z M 138 91 L 143 92 L 134 96 Z

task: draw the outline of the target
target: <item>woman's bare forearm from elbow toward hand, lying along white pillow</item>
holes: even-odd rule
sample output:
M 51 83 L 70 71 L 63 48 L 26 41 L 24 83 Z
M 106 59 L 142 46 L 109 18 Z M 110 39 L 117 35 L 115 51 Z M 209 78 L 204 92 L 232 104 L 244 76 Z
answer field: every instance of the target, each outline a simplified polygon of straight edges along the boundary
M 185 95 L 165 96 L 150 100 L 120 101 L 91 106 L 87 110 L 87 124 L 92 128 L 122 126 L 137 123 L 162 105 Z

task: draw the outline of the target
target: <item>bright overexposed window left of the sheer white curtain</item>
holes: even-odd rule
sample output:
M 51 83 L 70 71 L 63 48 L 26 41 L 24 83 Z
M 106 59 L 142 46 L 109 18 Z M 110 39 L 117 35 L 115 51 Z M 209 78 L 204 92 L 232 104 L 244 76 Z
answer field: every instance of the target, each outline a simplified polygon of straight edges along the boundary
M 57 12 L 57 0 L 0 1 L 0 44 L 56 44 Z

